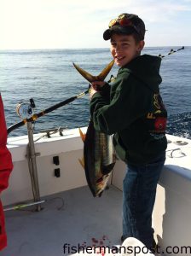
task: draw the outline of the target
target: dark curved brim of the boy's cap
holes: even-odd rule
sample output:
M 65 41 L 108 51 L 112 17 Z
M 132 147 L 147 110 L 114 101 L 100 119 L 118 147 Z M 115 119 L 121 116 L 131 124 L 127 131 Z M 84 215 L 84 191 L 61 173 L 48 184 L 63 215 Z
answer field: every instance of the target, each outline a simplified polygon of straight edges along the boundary
M 132 32 L 135 32 L 135 29 L 132 26 L 112 26 L 103 33 L 103 39 L 111 39 L 113 33 L 129 35 Z

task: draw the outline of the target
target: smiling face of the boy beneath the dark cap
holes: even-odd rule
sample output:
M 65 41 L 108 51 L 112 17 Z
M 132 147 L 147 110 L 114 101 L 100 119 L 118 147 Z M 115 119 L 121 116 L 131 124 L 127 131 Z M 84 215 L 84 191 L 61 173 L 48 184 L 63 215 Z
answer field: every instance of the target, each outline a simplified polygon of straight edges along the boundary
M 111 53 L 115 63 L 123 67 L 140 55 L 144 47 L 144 41 L 136 43 L 132 35 L 113 34 L 111 38 Z

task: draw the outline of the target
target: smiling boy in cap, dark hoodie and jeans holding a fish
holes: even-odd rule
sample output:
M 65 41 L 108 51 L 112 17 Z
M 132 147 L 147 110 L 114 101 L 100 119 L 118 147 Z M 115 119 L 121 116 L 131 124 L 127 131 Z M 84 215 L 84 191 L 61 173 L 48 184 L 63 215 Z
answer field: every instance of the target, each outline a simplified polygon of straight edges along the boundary
M 152 212 L 156 187 L 165 163 L 167 113 L 159 95 L 161 59 L 141 55 L 145 25 L 137 15 L 122 14 L 103 33 L 120 67 L 109 86 L 95 81 L 90 113 L 95 129 L 114 134 L 113 144 L 127 164 L 123 188 L 123 236 L 155 246 Z M 98 90 L 99 88 L 99 90 Z

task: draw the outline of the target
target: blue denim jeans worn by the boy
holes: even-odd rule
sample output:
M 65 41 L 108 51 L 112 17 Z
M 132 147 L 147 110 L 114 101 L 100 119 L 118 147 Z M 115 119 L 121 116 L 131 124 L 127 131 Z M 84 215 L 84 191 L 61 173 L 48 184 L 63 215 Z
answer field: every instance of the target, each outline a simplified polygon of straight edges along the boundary
M 145 165 L 127 164 L 123 183 L 123 238 L 136 237 L 153 247 L 152 212 L 165 153 Z

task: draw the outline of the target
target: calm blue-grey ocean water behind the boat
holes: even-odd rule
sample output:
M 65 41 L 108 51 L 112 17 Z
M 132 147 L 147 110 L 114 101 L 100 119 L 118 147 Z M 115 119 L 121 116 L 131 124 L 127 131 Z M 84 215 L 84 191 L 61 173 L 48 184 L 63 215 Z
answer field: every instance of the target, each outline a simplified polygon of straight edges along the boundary
M 167 55 L 180 47 L 146 48 L 142 54 Z M 89 73 L 99 74 L 112 60 L 109 49 L 39 49 L 0 51 L 0 91 L 3 97 L 7 126 L 20 122 L 15 108 L 19 102 L 33 98 L 35 113 L 87 90 L 89 84 L 81 77 L 72 61 Z M 191 47 L 185 47 L 162 60 L 160 92 L 168 111 L 167 132 L 191 138 Z M 108 75 L 116 75 L 113 67 Z M 35 132 L 88 125 L 89 96 L 58 108 L 39 118 Z M 14 130 L 9 137 L 26 135 L 26 125 Z

